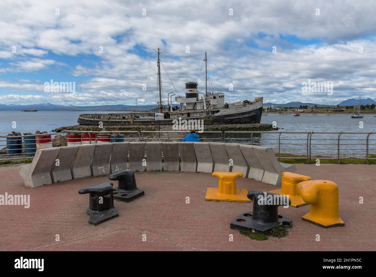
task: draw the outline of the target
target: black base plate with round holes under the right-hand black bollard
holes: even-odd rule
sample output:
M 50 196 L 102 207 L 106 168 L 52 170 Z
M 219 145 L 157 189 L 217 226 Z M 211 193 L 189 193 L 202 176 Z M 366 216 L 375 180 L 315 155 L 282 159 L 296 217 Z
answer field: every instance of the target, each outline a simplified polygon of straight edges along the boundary
M 255 230 L 262 234 L 267 234 L 268 231 L 276 226 L 292 228 L 293 222 L 285 216 L 278 215 L 277 222 L 264 223 L 252 219 L 252 212 L 246 212 L 239 215 L 230 223 L 230 229 L 235 230 Z

